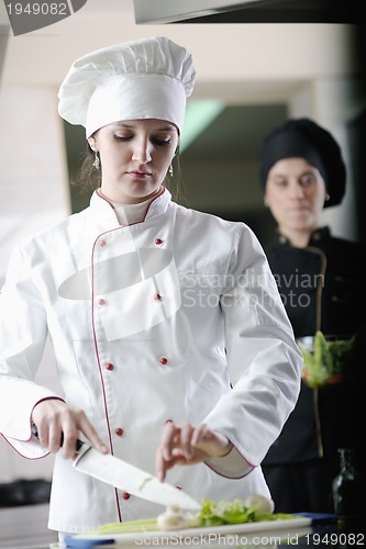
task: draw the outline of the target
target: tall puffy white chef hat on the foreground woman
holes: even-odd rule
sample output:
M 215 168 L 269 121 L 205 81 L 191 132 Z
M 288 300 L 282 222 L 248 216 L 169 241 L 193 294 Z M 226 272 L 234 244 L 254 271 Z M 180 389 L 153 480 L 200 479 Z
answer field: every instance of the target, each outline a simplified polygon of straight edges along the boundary
M 165 36 L 108 46 L 77 59 L 58 91 L 58 113 L 86 136 L 121 120 L 159 119 L 181 132 L 196 71 L 192 57 Z

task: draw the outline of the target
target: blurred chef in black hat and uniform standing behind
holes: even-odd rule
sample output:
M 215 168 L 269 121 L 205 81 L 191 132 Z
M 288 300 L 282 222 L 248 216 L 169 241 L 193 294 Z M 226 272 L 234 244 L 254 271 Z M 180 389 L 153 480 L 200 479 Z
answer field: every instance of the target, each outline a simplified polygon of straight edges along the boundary
M 341 376 L 321 386 L 309 386 L 303 377 L 296 408 L 263 462 L 276 512 L 328 513 L 337 448 L 355 448 L 362 469 L 366 251 L 333 236 L 322 220 L 324 208 L 341 204 L 346 184 L 341 148 L 325 128 L 289 120 L 266 136 L 259 161 L 265 205 L 277 223 L 265 251 L 296 337 L 356 334 Z

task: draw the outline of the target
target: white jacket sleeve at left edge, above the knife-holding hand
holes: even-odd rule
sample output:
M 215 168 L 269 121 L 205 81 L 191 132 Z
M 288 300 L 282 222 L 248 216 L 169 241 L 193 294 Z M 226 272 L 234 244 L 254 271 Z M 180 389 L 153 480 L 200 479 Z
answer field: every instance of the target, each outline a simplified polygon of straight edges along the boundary
M 59 397 L 34 382 L 47 337 L 46 313 L 32 271 L 18 247 L 0 294 L 0 433 L 21 455 L 46 455 L 31 432 L 33 407 Z

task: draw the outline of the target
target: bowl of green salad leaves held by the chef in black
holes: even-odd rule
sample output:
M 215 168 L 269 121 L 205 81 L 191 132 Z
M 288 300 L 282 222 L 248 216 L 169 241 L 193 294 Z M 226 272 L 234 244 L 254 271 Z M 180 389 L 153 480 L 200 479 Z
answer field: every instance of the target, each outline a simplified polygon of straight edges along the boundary
M 328 340 L 322 332 L 317 332 L 313 348 L 298 341 L 303 357 L 303 379 L 310 386 L 320 386 L 342 374 L 345 359 L 352 350 L 355 336 L 350 339 Z

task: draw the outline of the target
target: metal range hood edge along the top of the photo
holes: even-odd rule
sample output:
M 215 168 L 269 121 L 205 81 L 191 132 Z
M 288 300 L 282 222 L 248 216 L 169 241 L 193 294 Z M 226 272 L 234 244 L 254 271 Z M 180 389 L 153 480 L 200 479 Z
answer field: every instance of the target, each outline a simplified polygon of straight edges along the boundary
M 134 0 L 136 24 L 358 23 L 356 0 Z

